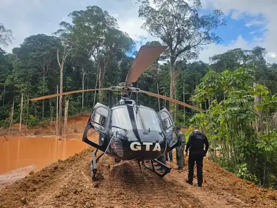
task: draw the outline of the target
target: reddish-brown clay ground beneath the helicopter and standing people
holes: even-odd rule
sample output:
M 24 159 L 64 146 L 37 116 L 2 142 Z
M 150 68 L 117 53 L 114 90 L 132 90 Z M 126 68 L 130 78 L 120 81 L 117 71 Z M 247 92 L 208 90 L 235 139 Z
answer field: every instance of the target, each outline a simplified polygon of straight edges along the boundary
M 277 191 L 241 180 L 207 159 L 202 188 L 186 184 L 187 167 L 179 173 L 175 162 L 163 178 L 144 168 L 141 173 L 132 162 L 112 170 L 99 166 L 103 178 L 92 181 L 91 150 L 2 189 L 0 207 L 277 207 Z

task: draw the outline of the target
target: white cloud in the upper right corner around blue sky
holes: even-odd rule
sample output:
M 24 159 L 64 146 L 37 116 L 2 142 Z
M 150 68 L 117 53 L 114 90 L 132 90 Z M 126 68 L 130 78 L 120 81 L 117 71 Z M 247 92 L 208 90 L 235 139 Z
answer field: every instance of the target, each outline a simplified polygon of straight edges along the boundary
M 245 45 L 245 42 L 233 42 L 233 44 L 242 49 L 244 49 L 244 46 L 262 46 L 267 49 L 267 61 L 277 62 L 277 57 L 271 55 L 277 53 L 276 0 L 203 0 L 202 4 L 204 8 L 217 8 L 226 14 L 231 14 L 233 19 L 252 18 L 251 21 L 247 22 L 246 26 L 262 26 L 263 35 L 254 38 L 252 42 L 247 42 L 247 45 Z M 257 19 L 257 17 L 260 18 Z M 252 34 L 256 32 L 251 31 Z M 226 49 L 235 45 L 229 45 Z M 211 46 L 206 50 L 211 52 L 211 49 L 213 49 L 213 53 L 217 53 L 217 51 L 222 51 L 222 46 Z M 202 53 L 206 54 L 207 51 L 202 51 Z M 203 54 L 201 56 L 203 57 Z

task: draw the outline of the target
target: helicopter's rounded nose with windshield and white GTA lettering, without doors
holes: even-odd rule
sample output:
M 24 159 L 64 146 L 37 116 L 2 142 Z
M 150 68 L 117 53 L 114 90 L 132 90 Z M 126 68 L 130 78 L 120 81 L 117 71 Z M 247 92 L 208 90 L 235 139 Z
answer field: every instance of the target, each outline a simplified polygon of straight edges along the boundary
M 136 105 L 111 108 L 111 123 L 106 135 L 107 153 L 122 160 L 157 159 L 166 150 L 167 139 L 157 112 Z

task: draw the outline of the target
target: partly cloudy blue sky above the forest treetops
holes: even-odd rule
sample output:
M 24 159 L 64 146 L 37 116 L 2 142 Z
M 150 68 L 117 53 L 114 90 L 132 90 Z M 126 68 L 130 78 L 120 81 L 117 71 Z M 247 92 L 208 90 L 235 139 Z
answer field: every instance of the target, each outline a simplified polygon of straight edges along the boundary
M 70 12 L 87 6 L 99 6 L 116 17 L 120 30 L 136 42 L 136 49 L 157 40 L 141 28 L 143 19 L 139 18 L 136 0 L 0 0 L 0 23 L 15 37 L 3 49 L 12 52 L 30 35 L 53 35 L 61 21 L 71 22 Z M 205 46 L 199 60 L 209 63 L 211 56 L 231 49 L 262 46 L 267 50 L 267 62 L 277 62 L 277 0 L 202 0 L 202 9 L 222 10 L 226 26 L 215 31 L 222 42 Z

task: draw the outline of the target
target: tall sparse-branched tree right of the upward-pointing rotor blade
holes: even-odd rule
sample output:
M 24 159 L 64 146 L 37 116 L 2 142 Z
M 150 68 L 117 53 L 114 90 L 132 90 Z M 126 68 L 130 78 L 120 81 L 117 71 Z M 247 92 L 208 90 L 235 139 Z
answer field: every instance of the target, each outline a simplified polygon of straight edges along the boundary
M 213 15 L 199 16 L 199 0 L 194 1 L 192 6 L 183 0 L 154 0 L 154 7 L 148 0 L 138 1 L 139 17 L 145 20 L 142 27 L 169 47 L 170 98 L 174 98 L 176 60 L 195 58 L 201 46 L 220 42 L 220 37 L 212 31 L 225 24 L 221 18 L 223 13 L 214 10 Z

